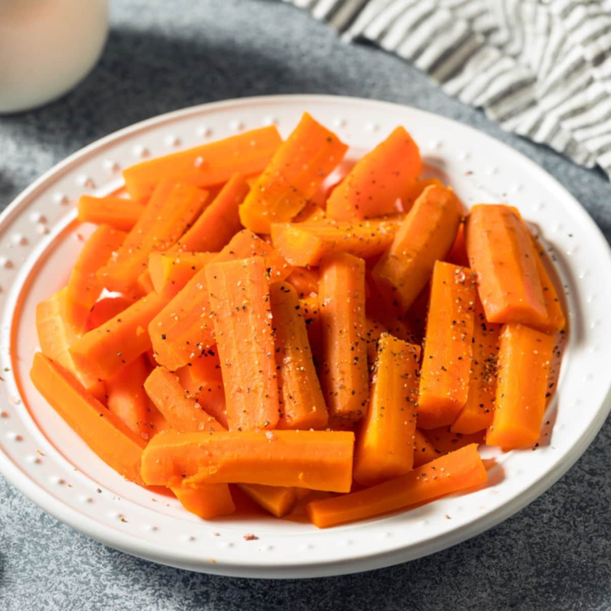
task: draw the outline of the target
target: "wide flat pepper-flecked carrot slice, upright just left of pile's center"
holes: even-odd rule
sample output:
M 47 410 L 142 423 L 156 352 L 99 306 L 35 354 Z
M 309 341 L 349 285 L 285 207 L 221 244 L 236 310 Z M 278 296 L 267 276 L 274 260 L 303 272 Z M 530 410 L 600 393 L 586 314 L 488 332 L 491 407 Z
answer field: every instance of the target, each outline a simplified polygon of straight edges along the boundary
M 205 271 L 229 428 L 275 428 L 278 385 L 263 260 L 251 257 L 210 263 Z

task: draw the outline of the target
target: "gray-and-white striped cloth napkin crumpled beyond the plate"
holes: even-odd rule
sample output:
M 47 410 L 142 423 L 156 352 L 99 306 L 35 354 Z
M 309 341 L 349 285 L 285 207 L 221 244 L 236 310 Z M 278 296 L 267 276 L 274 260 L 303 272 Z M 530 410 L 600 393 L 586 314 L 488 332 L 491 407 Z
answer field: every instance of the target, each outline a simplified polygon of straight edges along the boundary
M 284 0 L 611 178 L 611 0 Z

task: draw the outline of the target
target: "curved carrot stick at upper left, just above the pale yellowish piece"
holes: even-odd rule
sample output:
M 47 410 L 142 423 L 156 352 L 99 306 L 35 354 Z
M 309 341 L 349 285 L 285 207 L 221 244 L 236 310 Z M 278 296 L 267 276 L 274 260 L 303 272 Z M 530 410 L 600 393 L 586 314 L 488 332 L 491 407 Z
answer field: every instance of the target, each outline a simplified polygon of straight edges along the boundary
M 77 333 L 84 331 L 87 315 L 104 288 L 95 274 L 119 249 L 125 236 L 110 225 L 100 225 L 76 258 L 66 290 L 66 318 Z

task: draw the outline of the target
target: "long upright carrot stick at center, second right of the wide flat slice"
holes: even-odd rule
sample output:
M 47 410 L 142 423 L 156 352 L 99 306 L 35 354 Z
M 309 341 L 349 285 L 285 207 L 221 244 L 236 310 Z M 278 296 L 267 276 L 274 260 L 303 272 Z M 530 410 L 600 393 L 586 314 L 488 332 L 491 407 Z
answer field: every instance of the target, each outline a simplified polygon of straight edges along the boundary
M 329 418 L 358 422 L 367 412 L 365 262 L 339 252 L 320 266 L 321 386 Z

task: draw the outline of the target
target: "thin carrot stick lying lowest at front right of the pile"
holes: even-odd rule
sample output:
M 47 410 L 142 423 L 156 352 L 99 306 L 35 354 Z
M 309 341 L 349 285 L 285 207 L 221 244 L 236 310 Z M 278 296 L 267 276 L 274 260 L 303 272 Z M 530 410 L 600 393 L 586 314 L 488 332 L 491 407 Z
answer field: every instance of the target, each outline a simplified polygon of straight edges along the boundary
M 305 511 L 310 521 L 322 529 L 373 518 L 451 492 L 472 488 L 484 483 L 487 478 L 477 445 L 467 445 L 413 469 L 406 475 L 371 488 L 312 501 L 305 506 Z

